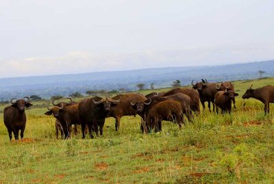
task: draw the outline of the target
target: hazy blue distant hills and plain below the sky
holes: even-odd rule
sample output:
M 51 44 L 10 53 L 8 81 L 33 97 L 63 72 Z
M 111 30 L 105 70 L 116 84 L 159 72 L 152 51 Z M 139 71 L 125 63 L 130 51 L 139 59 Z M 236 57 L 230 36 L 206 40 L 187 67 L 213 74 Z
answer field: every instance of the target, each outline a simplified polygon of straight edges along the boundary
M 205 64 L 206 65 L 206 64 Z M 99 73 L 82 73 L 71 75 L 51 75 L 34 77 L 16 77 L 0 79 L 0 99 L 30 96 L 36 94 L 43 98 L 53 95 L 69 95 L 73 92 L 87 90 L 137 90 L 137 83 L 145 83 L 149 88 L 170 87 L 175 79 L 182 85 L 189 85 L 192 80 L 201 78 L 208 81 L 232 81 L 258 78 L 258 70 L 266 73 L 263 77 L 274 76 L 274 60 L 251 62 L 247 64 L 231 64 L 223 66 L 195 66 L 174 68 L 149 68 Z

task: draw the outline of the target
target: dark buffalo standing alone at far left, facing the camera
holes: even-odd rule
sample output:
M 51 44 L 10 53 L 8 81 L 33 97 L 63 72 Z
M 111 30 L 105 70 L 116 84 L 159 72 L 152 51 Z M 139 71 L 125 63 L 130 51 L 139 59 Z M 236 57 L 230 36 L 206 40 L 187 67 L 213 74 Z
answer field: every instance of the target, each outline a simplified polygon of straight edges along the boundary
M 16 101 L 14 101 L 16 100 Z M 23 99 L 17 100 L 12 98 L 10 103 L 12 105 L 5 107 L 4 109 L 4 123 L 5 127 L 8 129 L 8 134 L 10 140 L 12 140 L 12 132 L 14 134 L 15 140 L 18 140 L 18 134 L 21 130 L 21 139 L 24 137 L 25 124 L 27 121 L 25 108 L 32 107 L 29 97 L 24 97 Z

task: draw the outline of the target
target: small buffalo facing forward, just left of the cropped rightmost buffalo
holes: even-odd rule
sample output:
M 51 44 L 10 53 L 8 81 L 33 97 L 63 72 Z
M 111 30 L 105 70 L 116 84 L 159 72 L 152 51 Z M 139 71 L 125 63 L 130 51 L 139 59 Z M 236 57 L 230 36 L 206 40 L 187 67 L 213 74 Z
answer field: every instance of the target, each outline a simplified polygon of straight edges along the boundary
M 215 95 L 215 105 L 216 105 L 216 112 L 218 114 L 219 108 L 221 109 L 222 113 L 228 111 L 229 114 L 232 109 L 232 101 L 235 96 L 239 94 L 234 92 L 234 90 L 225 90 L 219 91 Z

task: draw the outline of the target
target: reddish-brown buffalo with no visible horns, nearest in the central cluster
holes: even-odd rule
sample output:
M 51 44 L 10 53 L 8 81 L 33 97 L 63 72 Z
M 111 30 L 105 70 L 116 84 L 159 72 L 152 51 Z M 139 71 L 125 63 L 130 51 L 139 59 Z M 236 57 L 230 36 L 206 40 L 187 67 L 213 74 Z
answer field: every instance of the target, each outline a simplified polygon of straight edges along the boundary
M 156 103 L 149 110 L 146 119 L 146 129 L 151 132 L 155 127 L 155 132 L 162 128 L 162 120 L 177 122 L 178 126 L 184 123 L 182 114 L 182 104 L 178 101 L 162 101 Z

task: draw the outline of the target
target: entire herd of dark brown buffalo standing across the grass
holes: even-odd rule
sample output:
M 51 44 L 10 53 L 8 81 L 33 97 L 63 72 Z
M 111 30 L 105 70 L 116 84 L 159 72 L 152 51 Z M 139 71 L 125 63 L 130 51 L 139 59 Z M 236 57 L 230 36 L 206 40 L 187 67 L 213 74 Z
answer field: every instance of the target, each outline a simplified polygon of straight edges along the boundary
M 192 121 L 194 114 L 199 114 L 200 105 L 206 108 L 205 102 L 208 102 L 208 108 L 219 114 L 231 113 L 232 103 L 235 106 L 235 92 L 231 82 L 209 83 L 206 79 L 193 83 L 192 88 L 175 88 L 169 92 L 152 92 L 146 96 L 139 93 L 118 94 L 112 98 L 94 96 L 85 98 L 79 103 L 67 98 L 69 102 L 55 103 L 53 107 L 47 107 L 45 115 L 53 115 L 55 120 L 56 136 L 61 132 L 61 137 L 71 137 L 71 129 L 74 124 L 74 131 L 77 133 L 77 124 L 82 127 L 82 138 L 88 131 L 91 138 L 92 132 L 97 136 L 103 135 L 103 126 L 105 118 L 115 118 L 115 130 L 119 131 L 120 120 L 122 116 L 141 117 L 140 129 L 142 133 L 150 133 L 152 129 L 155 132 L 162 130 L 162 120 L 176 122 L 178 127 L 185 123 L 184 116 L 189 122 Z M 253 89 L 252 86 L 245 92 L 242 98 L 256 98 L 264 103 L 264 113 L 269 113 L 269 103 L 274 103 L 274 86 L 264 86 Z M 8 135 L 12 140 L 12 132 L 15 140 L 18 140 L 18 133 L 23 138 L 26 124 L 25 108 L 32 107 L 29 97 L 22 99 L 12 98 L 11 105 L 5 107 L 3 118 L 5 127 L 8 129 Z

